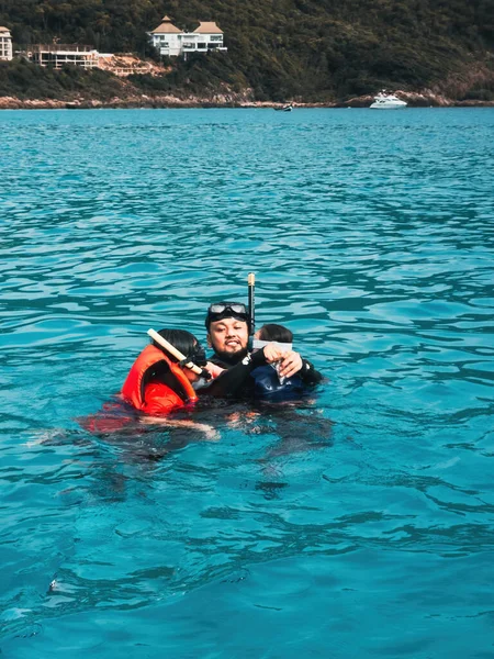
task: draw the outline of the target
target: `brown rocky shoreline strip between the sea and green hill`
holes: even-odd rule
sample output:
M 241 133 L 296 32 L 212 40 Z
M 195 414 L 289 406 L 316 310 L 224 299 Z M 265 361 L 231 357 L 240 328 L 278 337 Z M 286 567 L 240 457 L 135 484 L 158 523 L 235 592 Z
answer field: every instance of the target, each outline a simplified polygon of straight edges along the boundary
M 482 108 L 494 107 L 494 101 L 458 101 L 430 90 L 422 92 L 395 91 L 409 108 Z M 372 96 L 356 97 L 340 102 L 290 101 L 294 108 L 369 108 Z M 215 94 L 207 98 L 131 94 L 111 99 L 19 99 L 0 97 L 0 110 L 96 110 L 96 109 L 177 109 L 177 108 L 281 108 L 283 103 L 254 101 L 248 94 Z

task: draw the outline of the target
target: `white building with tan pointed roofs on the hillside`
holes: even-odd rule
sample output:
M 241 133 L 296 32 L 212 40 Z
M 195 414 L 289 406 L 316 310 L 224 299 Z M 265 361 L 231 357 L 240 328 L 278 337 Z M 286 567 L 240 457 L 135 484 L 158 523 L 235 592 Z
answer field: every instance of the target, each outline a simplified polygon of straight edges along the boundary
M 183 32 L 164 16 L 161 24 L 148 33 L 160 55 L 177 57 L 188 53 L 227 51 L 223 45 L 223 31 L 213 22 L 200 22 L 193 32 Z

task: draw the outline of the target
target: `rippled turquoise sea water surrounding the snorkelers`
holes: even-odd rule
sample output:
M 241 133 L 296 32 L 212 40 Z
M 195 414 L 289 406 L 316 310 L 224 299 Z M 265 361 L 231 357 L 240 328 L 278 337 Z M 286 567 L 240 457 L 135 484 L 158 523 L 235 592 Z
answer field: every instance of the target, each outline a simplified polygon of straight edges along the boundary
M 493 657 L 494 110 L 0 130 L 2 657 Z M 250 270 L 313 401 L 80 426 Z

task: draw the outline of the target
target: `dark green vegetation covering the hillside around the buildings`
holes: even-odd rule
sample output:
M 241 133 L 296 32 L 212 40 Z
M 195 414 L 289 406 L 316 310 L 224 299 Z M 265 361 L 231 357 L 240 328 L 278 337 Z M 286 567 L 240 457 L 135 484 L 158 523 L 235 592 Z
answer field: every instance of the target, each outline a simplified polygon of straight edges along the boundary
M 494 99 L 493 0 L 0 0 L 0 25 L 12 31 L 15 48 L 58 38 L 156 56 L 146 32 L 165 13 L 188 30 L 216 21 L 228 53 L 173 58 L 164 79 L 134 77 L 145 92 L 201 93 L 226 83 L 251 88 L 259 100 L 324 101 L 382 87 L 418 90 L 461 75 L 458 98 Z M 12 92 L 20 78 L 29 93 L 27 69 L 15 66 L 16 72 L 0 71 L 0 85 Z M 484 72 L 469 86 L 465 71 L 479 66 Z M 42 79 L 55 92 L 68 83 L 64 76 Z M 98 87 L 90 78 L 75 83 Z M 453 86 L 449 91 L 456 93 Z

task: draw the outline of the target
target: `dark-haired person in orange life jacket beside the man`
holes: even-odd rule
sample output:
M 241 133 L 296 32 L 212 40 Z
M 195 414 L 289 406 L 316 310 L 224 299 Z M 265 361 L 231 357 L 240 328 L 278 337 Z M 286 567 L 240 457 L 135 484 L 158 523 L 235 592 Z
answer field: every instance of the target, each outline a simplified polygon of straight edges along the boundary
M 158 332 L 197 366 L 205 367 L 205 353 L 198 339 L 184 330 Z M 198 400 L 194 383 L 201 376 L 186 368 L 155 342 L 135 360 L 122 387 L 122 395 L 136 410 L 165 415 L 191 406 Z

